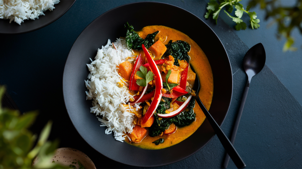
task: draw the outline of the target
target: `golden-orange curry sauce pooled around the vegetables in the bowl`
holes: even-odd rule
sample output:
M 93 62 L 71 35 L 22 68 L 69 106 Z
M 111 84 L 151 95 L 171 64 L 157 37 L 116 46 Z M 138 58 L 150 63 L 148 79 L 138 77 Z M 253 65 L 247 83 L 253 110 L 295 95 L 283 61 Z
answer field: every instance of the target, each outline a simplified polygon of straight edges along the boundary
M 166 26 L 146 26 L 137 33 L 138 35 L 140 35 L 141 38 L 144 39 L 148 34 L 151 34 L 156 31 L 159 31 L 159 33 L 154 38 L 155 42 L 161 40 L 165 45 L 167 45 L 170 40 L 182 40 L 186 41 L 189 45 L 191 45 L 191 50 L 188 52 L 188 55 L 191 57 L 190 64 L 194 67 L 196 75 L 198 75 L 198 78 L 200 80 L 201 88 L 199 91 L 199 97 L 202 103 L 204 103 L 204 106 L 207 109 L 210 109 L 214 87 L 213 74 L 210 63 L 204 52 L 187 35 L 178 30 Z M 189 71 L 192 71 L 191 68 L 189 68 Z M 162 136 L 156 137 L 150 137 L 148 134 L 140 143 L 132 142 L 130 144 L 143 149 L 163 149 L 169 146 L 173 146 L 191 136 L 191 134 L 193 134 L 201 126 L 204 119 L 206 118 L 197 103 L 194 107 L 194 113 L 196 114 L 195 121 L 188 126 L 177 128 L 177 130 L 173 134 L 163 134 Z M 154 143 L 152 143 L 160 138 L 164 139 L 164 143 L 161 143 L 159 145 L 155 145 Z M 126 142 L 130 142 L 127 137 Z

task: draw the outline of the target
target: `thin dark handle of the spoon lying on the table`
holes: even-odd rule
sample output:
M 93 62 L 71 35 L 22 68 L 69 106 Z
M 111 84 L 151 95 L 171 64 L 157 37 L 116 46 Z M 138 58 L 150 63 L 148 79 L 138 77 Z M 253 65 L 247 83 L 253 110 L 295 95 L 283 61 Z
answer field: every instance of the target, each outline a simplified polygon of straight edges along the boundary
M 235 142 L 235 137 L 236 137 L 236 134 L 237 134 L 240 118 L 241 118 L 241 115 L 242 115 L 242 112 L 243 112 L 243 107 L 244 107 L 244 104 L 245 104 L 245 101 L 246 101 L 246 96 L 247 96 L 248 91 L 249 91 L 249 81 L 247 82 L 246 87 L 243 91 L 241 104 L 240 104 L 240 107 L 239 107 L 239 111 L 238 111 L 237 118 L 236 118 L 236 121 L 235 121 L 235 124 L 234 124 L 233 132 L 232 132 L 232 135 L 231 135 L 231 143 L 233 145 L 234 145 L 234 142 Z M 227 167 L 227 165 L 229 164 L 229 160 L 230 160 L 230 156 L 229 156 L 229 154 L 226 154 L 226 157 L 224 158 L 224 162 L 223 162 L 223 168 Z

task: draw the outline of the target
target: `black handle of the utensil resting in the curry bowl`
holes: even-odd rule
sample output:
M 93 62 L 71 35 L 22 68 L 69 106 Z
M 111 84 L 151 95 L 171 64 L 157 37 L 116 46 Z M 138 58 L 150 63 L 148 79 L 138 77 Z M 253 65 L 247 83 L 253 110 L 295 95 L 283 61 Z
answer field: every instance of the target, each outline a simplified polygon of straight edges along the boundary
M 195 99 L 197 103 L 199 104 L 201 110 L 204 112 L 204 115 L 207 117 L 208 121 L 210 122 L 212 128 L 214 129 L 215 133 L 217 134 L 217 137 L 219 138 L 222 146 L 226 150 L 226 152 L 230 155 L 233 162 L 235 163 L 237 168 L 244 168 L 246 164 L 241 159 L 240 155 L 230 142 L 230 140 L 226 137 L 226 135 L 223 133 L 219 125 L 216 123 L 214 118 L 210 115 L 210 113 L 207 111 L 207 109 L 204 107 L 204 104 L 201 102 L 198 95 L 195 96 Z

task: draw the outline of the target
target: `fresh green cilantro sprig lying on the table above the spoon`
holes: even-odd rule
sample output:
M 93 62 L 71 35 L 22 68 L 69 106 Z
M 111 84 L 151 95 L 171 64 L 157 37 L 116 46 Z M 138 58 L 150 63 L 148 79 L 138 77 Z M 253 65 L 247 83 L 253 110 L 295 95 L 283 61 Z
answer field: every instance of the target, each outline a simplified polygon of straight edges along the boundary
M 213 19 L 216 21 L 217 24 L 217 19 L 218 15 L 223 7 L 226 7 L 226 10 L 224 12 L 233 19 L 237 25 L 235 26 L 236 30 L 246 29 L 246 23 L 243 22 L 242 19 L 240 19 L 243 16 L 243 13 L 247 13 L 250 17 L 250 25 L 252 29 L 258 29 L 260 25 L 258 24 L 260 22 L 259 19 L 257 18 L 256 12 L 250 12 L 249 9 L 251 8 L 251 5 L 248 5 L 246 7 L 246 10 L 244 10 L 243 5 L 239 3 L 241 0 L 220 0 L 220 4 L 218 4 L 215 0 L 210 0 L 207 6 L 207 13 L 204 15 L 206 19 L 208 19 L 210 16 L 213 16 Z M 231 16 L 230 14 L 233 11 L 233 6 L 235 7 L 235 15 L 236 17 Z

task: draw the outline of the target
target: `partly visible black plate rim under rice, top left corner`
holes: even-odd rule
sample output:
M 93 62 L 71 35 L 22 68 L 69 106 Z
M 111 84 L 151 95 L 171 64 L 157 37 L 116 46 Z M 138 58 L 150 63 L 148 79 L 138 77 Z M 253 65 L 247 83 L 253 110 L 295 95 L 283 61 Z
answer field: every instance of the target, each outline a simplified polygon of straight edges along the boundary
M 54 5 L 55 9 L 53 11 L 45 11 L 45 16 L 40 15 L 39 19 L 24 20 L 21 25 L 14 21 L 9 23 L 9 19 L 0 19 L 0 33 L 21 34 L 41 29 L 63 16 L 75 2 L 76 0 L 61 0 L 58 4 Z

